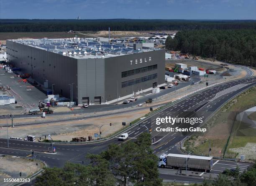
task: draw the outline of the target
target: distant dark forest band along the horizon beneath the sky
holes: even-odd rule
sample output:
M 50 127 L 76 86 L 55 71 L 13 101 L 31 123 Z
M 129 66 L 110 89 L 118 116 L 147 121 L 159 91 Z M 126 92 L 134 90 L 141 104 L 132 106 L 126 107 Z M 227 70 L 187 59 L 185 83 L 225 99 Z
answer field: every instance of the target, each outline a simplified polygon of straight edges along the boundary
M 26 20 L 0 19 L 0 32 L 256 29 L 255 20 Z

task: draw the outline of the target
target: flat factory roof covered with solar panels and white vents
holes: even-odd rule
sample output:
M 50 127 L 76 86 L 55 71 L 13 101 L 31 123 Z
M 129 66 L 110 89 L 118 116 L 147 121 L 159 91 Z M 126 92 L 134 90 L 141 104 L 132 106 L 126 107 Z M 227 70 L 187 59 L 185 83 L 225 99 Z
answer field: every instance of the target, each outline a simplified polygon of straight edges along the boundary
M 13 42 L 28 45 L 34 48 L 47 50 L 71 58 L 109 58 L 119 55 L 142 53 L 155 49 L 134 50 L 125 43 L 113 43 L 100 41 L 95 38 L 65 38 L 65 39 L 23 39 L 11 40 Z M 159 50 L 159 49 L 156 49 Z

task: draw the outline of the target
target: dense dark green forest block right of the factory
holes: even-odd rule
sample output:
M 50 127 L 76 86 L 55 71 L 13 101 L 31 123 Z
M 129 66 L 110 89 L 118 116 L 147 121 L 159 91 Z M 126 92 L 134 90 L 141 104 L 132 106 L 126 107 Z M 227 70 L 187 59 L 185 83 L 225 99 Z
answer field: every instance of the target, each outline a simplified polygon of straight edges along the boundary
M 181 30 L 166 48 L 256 67 L 256 30 Z

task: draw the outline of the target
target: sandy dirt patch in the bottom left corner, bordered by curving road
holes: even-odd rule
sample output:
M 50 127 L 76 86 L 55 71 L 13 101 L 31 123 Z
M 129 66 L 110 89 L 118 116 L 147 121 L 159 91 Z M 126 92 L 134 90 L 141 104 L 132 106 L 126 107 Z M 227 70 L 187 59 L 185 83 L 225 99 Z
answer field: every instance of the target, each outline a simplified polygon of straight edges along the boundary
M 36 166 L 38 163 L 38 166 Z M 13 183 L 4 182 L 4 178 L 27 178 L 44 167 L 40 161 L 33 161 L 17 156 L 0 156 L 0 185 L 9 186 Z M 20 177 L 20 172 L 22 173 Z

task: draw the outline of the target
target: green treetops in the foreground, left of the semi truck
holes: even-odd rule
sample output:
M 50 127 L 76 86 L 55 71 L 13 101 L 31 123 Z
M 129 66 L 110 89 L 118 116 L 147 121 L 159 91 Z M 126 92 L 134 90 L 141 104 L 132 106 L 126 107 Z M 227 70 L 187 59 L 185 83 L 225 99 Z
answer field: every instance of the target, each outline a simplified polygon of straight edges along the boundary
M 128 182 L 134 186 L 162 185 L 148 133 L 142 133 L 135 142 L 113 144 L 100 154 L 88 154 L 87 161 L 44 168 L 35 186 L 126 186 Z

